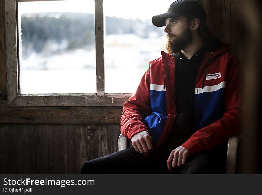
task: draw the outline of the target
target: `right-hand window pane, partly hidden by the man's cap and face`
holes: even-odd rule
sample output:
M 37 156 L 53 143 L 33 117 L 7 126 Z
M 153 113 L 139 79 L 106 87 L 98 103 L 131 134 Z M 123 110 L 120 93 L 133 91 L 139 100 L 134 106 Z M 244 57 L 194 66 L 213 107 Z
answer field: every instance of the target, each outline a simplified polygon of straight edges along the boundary
M 153 26 L 151 19 L 166 12 L 170 3 L 104 0 L 106 93 L 133 93 L 149 61 L 161 56 L 164 27 Z

